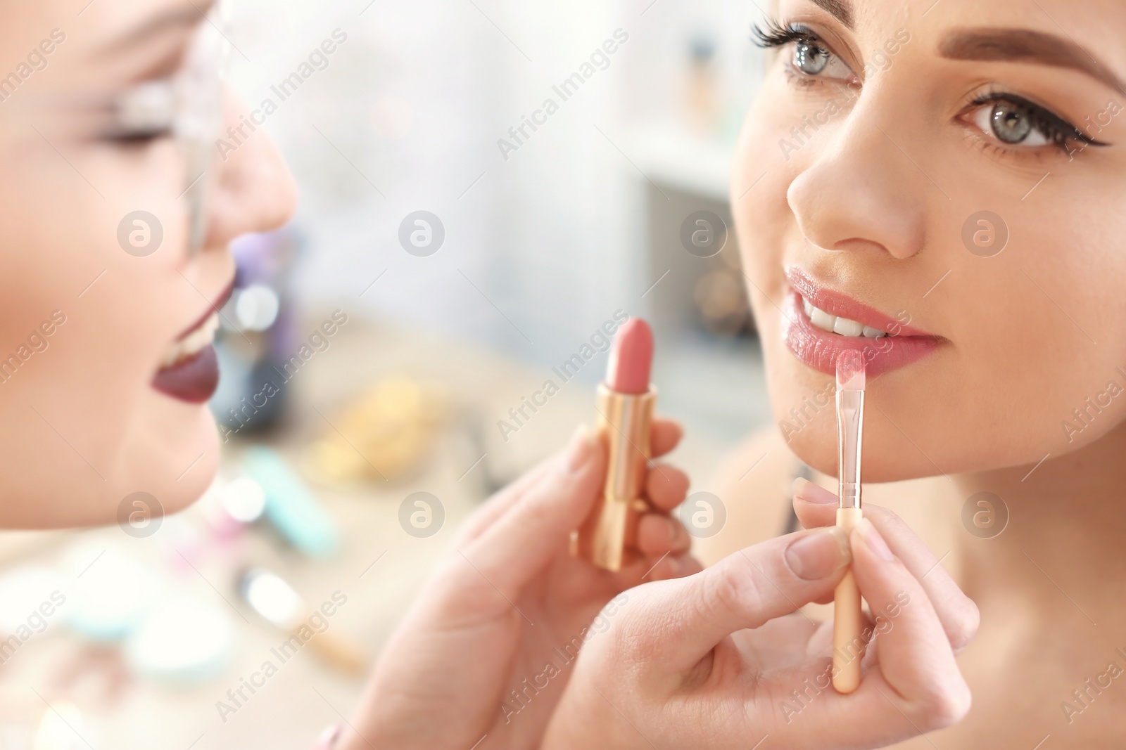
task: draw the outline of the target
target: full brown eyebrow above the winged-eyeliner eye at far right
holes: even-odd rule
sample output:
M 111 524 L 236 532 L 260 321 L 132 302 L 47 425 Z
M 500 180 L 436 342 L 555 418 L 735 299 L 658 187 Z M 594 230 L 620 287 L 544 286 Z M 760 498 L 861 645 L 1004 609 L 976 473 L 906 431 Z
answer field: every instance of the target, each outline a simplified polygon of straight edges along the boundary
M 948 60 L 1029 62 L 1070 67 L 1126 93 L 1126 83 L 1071 39 L 1021 28 L 956 28 L 938 44 Z

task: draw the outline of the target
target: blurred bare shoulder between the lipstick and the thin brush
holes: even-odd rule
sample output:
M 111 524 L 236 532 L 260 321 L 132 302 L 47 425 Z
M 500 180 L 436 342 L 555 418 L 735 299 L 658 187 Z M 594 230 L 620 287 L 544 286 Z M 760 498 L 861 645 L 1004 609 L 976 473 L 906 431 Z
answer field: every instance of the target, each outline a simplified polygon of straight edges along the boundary
M 692 548 L 704 564 L 786 531 L 792 515 L 790 487 L 802 469 L 777 428 L 743 440 L 707 488 L 723 503 L 726 522 L 714 536 Z

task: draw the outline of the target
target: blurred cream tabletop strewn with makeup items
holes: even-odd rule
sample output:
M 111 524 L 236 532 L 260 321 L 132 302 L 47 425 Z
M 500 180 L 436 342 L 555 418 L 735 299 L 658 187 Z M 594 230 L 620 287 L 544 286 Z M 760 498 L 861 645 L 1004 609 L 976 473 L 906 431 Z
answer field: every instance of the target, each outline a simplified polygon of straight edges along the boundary
M 116 525 L 0 534 L 0 590 L 3 577 L 26 578 L 30 572 L 53 577 L 68 596 L 44 617 L 45 632 L 33 630 L 11 653 L 0 644 L 0 750 L 311 747 L 323 726 L 349 716 L 365 677 L 333 669 L 307 648 L 280 662 L 276 651 L 288 633 L 242 600 L 240 571 L 254 566 L 277 572 L 301 595 L 310 614 L 328 602 L 339 605 L 330 607 L 328 632 L 359 644 L 370 662 L 435 562 L 449 551 L 465 517 L 498 487 L 558 450 L 575 425 L 592 421 L 593 368 L 600 371 L 604 365 L 600 358 L 590 365 L 588 380 L 562 383 L 518 431 L 502 435 L 498 421 L 511 419 L 509 409 L 553 377 L 551 367 L 518 363 L 419 331 L 350 322 L 286 383 L 291 390 L 284 424 L 253 440 L 227 442 L 221 468 L 221 477 L 238 476 L 241 457 L 252 443 L 277 449 L 339 527 L 339 551 L 327 559 L 297 552 L 263 521 L 217 537 L 199 506 L 164 518 L 157 533 L 145 537 Z M 310 443 L 331 434 L 334 415 L 357 394 L 388 378 L 426 383 L 440 401 L 441 426 L 419 464 L 402 477 L 357 486 L 309 478 L 303 469 Z M 695 489 L 727 448 L 689 434 L 672 460 L 694 477 Z M 415 537 L 400 524 L 400 506 L 415 491 L 430 493 L 445 510 L 443 526 L 428 537 Z M 159 680 L 140 674 L 118 641 L 96 642 L 69 625 L 72 591 L 81 589 L 83 579 L 95 579 L 98 566 L 122 559 L 145 571 L 145 597 L 180 597 L 222 613 L 234 635 L 225 665 L 196 681 Z M 19 607 L 27 608 L 0 598 L 0 621 L 26 620 Z M 182 648 L 194 648 L 197 636 L 206 638 L 189 632 Z M 265 684 L 252 693 L 244 688 L 247 698 L 230 710 L 234 703 L 229 690 L 261 675 L 267 661 L 276 671 L 254 678 Z

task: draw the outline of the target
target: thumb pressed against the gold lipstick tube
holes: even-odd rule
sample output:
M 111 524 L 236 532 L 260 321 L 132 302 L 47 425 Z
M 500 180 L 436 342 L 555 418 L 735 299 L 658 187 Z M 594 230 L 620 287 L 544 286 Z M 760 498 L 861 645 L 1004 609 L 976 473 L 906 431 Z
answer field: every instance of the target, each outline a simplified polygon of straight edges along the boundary
M 595 504 L 606 477 L 606 449 L 579 427 L 555 466 L 461 553 L 507 597 L 515 597 L 561 549 Z

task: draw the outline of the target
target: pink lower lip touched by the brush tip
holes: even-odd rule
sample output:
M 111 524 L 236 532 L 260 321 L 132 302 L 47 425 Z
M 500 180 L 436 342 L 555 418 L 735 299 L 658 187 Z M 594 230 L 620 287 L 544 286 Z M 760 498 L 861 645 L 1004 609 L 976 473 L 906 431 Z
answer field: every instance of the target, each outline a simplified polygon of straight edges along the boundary
M 897 370 L 930 354 L 938 340 L 932 336 L 841 336 L 813 325 L 802 307 L 802 296 L 790 290 L 783 309 L 783 337 L 794 356 L 825 374 L 837 372 L 841 352 L 859 350 L 865 371 L 875 377 Z

